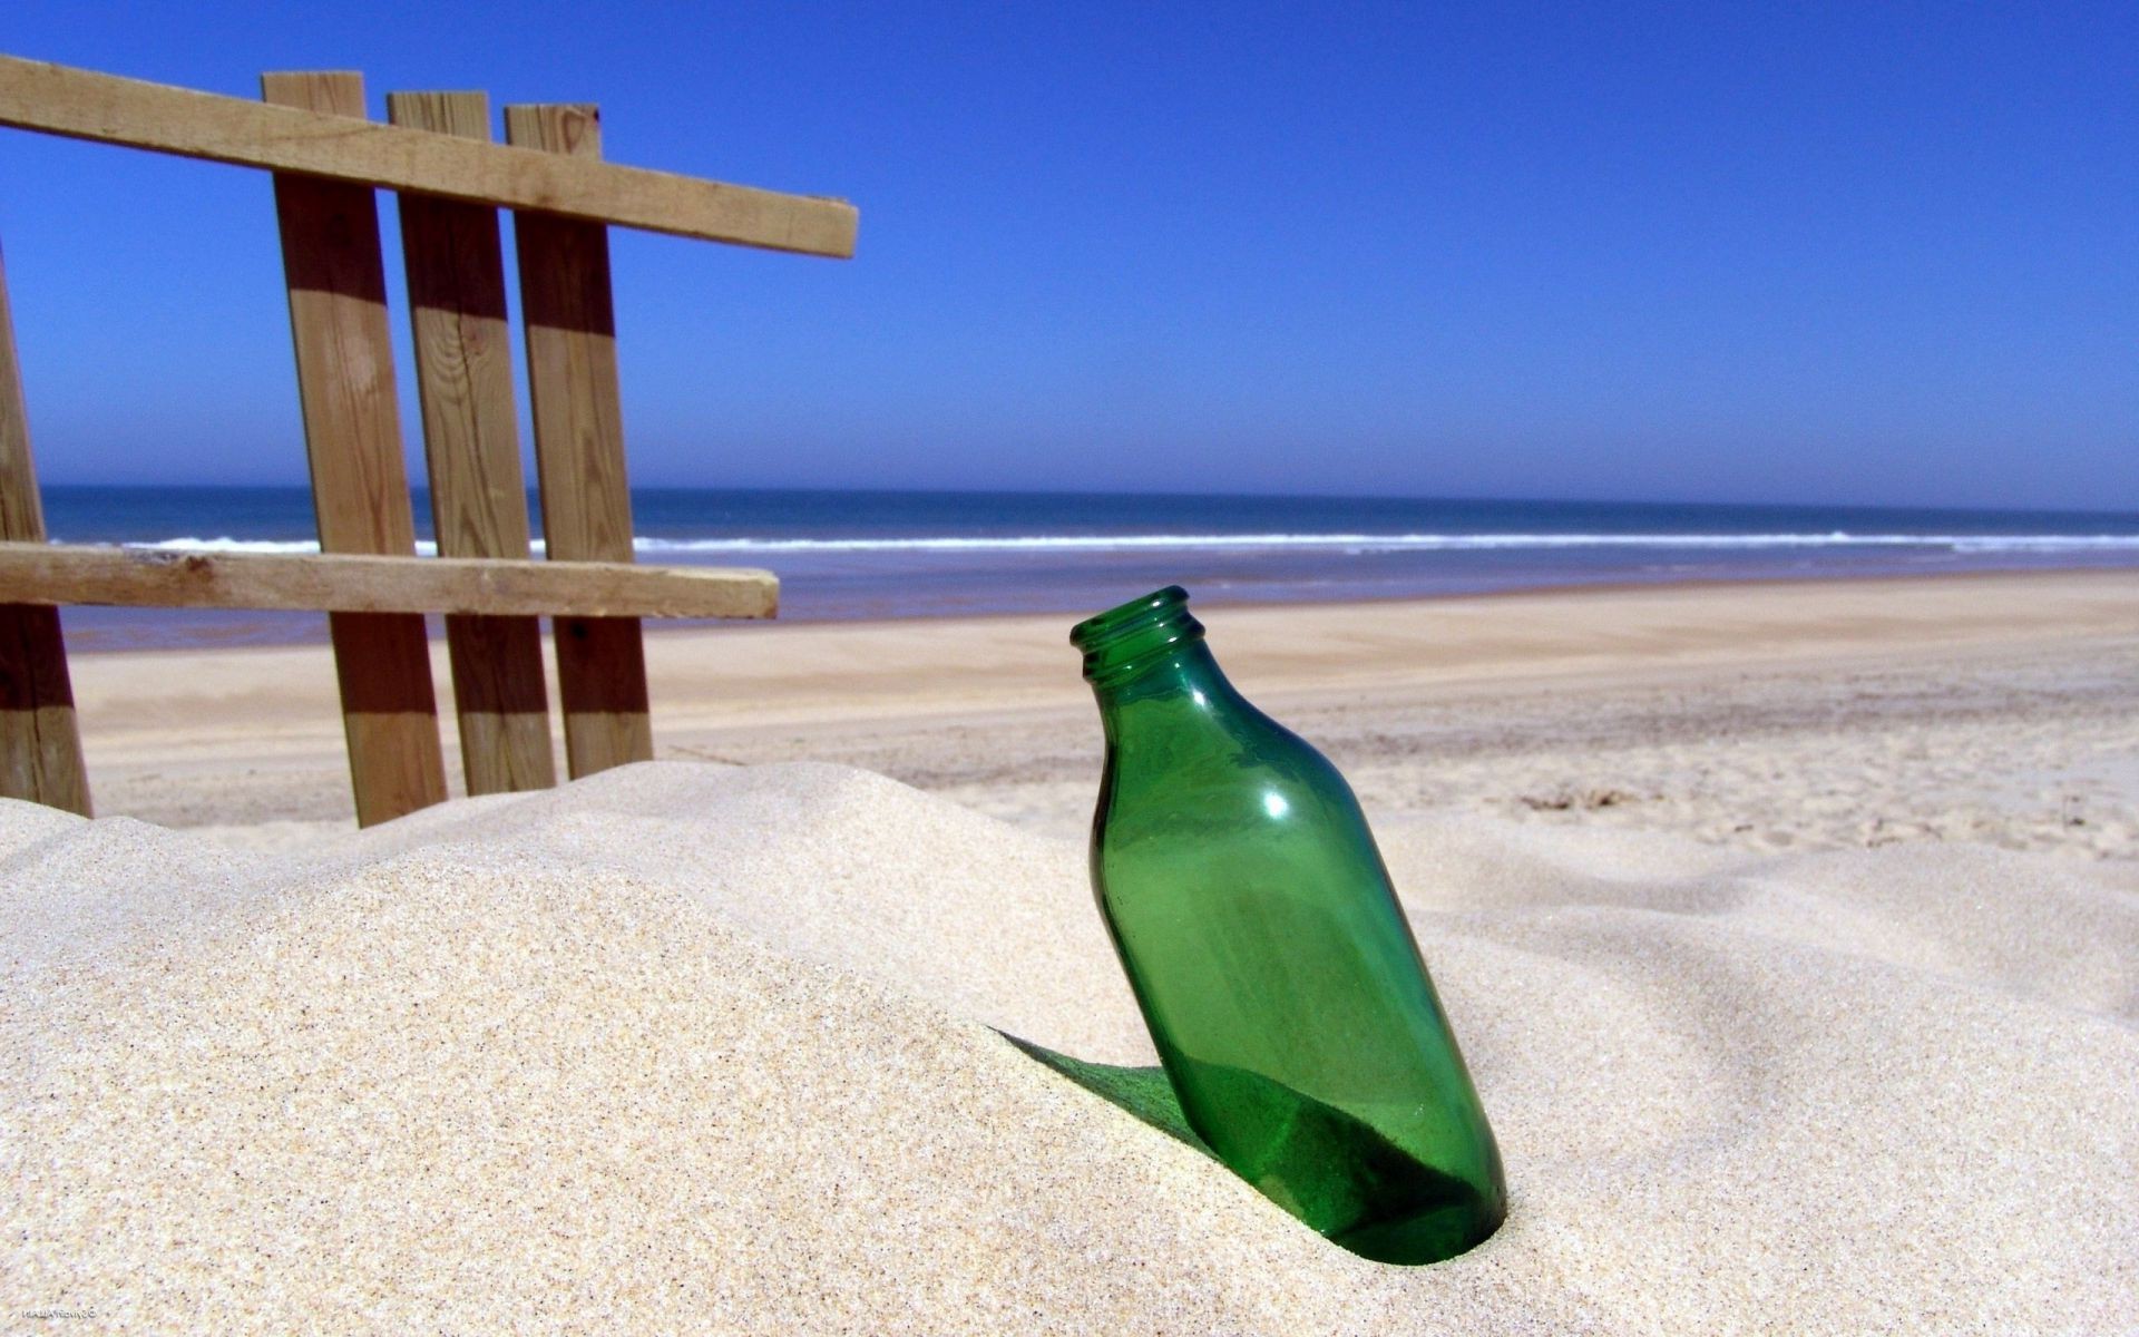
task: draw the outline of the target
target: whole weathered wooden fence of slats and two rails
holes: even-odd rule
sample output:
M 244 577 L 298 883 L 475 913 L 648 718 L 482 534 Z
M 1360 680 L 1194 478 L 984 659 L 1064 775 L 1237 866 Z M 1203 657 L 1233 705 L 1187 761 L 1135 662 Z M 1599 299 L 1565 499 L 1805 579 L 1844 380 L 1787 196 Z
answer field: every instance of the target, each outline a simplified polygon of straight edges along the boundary
M 588 105 L 505 109 L 353 73 L 261 77 L 261 103 L 0 56 L 0 124 L 274 173 L 317 556 L 45 541 L 0 267 L 0 796 L 90 811 L 58 605 L 323 610 L 357 821 L 445 798 L 424 614 L 445 614 L 471 794 L 556 783 L 539 618 L 573 777 L 652 757 L 640 618 L 768 618 L 768 571 L 631 565 L 607 227 L 853 255 L 856 210 L 601 160 Z M 374 188 L 400 193 L 436 558 L 415 556 Z M 498 210 L 513 210 L 535 473 L 520 471 Z

